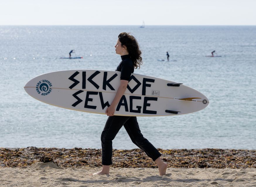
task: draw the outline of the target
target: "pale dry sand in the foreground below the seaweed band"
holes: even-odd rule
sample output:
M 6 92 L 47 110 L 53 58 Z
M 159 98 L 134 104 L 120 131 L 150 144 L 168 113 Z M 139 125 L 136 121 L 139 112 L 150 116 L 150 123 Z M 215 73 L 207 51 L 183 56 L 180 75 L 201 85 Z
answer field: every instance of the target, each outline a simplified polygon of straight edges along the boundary
M 1 167 L 0 186 L 256 186 L 256 168 L 111 168 L 110 175 L 94 175 L 100 167 L 66 167 L 36 162 L 30 167 Z

